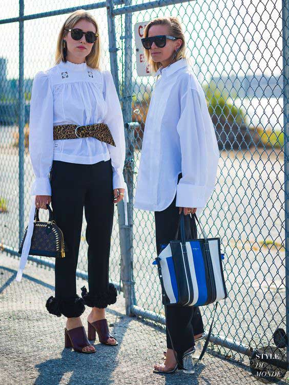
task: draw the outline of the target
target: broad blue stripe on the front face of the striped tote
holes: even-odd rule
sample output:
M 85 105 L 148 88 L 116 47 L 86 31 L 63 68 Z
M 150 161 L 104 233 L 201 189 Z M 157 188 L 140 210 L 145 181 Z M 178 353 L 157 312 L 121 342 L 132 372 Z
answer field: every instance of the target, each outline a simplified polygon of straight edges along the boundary
M 205 279 L 205 269 L 202 258 L 202 251 L 199 241 L 189 242 L 192 249 L 193 261 L 195 266 L 196 279 L 198 284 L 198 300 L 194 306 L 201 306 L 208 300 L 207 283 Z

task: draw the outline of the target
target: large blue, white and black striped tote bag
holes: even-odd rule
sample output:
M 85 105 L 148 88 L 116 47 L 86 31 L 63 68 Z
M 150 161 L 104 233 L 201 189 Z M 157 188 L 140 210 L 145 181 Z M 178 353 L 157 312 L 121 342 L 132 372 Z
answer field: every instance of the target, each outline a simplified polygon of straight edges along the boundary
M 225 287 L 220 238 L 207 238 L 195 214 L 203 238 L 185 239 L 184 214 L 180 214 L 175 240 L 160 245 L 156 258 L 164 305 L 203 306 L 228 296 Z M 181 240 L 178 239 L 180 230 Z M 196 235 L 196 230 L 195 230 Z

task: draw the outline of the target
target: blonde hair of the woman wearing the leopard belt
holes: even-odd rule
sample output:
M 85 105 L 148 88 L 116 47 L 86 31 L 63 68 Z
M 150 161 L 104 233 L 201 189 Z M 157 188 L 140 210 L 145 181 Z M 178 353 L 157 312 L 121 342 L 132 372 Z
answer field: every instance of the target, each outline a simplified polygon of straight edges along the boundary
M 60 29 L 58 39 L 57 39 L 57 47 L 56 47 L 56 53 L 55 53 L 55 64 L 59 64 L 61 61 L 65 62 L 64 52 L 63 52 L 63 38 L 67 35 L 67 31 L 65 29 L 71 29 L 75 26 L 75 24 L 81 20 L 85 19 L 89 22 L 91 22 L 95 28 L 96 33 L 98 33 L 98 37 L 96 41 L 94 42 L 92 49 L 90 53 L 86 56 L 86 63 L 91 68 L 99 69 L 99 60 L 100 60 L 100 38 L 99 38 L 99 32 L 98 32 L 98 24 L 95 20 L 95 18 L 92 16 L 91 13 L 87 12 L 84 9 L 78 9 L 75 12 L 72 12 L 66 21 L 64 22 L 63 26 Z

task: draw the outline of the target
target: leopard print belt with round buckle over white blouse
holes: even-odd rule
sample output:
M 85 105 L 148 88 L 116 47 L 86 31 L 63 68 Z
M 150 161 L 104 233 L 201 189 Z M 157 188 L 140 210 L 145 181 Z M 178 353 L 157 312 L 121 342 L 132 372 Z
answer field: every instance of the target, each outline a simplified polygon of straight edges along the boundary
M 87 126 L 77 124 L 60 124 L 53 127 L 53 140 L 93 137 L 116 147 L 107 124 L 95 123 Z

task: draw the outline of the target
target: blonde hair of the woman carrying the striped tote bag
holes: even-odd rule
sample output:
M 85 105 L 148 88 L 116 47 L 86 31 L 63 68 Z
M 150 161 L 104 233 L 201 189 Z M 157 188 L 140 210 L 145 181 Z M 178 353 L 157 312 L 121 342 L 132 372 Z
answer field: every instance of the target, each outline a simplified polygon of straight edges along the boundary
M 177 17 L 158 17 L 154 20 L 150 21 L 146 28 L 144 29 L 143 37 L 148 37 L 149 30 L 153 25 L 167 25 L 169 27 L 169 34 L 172 36 L 177 37 L 178 39 L 181 39 L 182 44 L 180 46 L 180 50 L 177 52 L 175 59 L 178 61 L 181 57 L 186 57 L 185 55 L 185 40 L 184 40 L 184 34 L 182 31 L 181 24 Z M 149 49 L 144 49 L 144 58 L 146 59 L 146 62 L 148 63 L 150 70 L 152 72 L 156 72 L 160 67 L 160 62 L 154 62 L 152 60 L 151 52 Z

